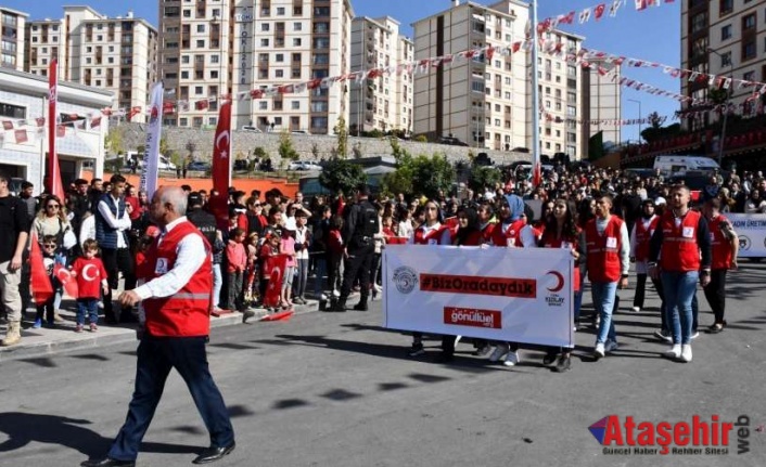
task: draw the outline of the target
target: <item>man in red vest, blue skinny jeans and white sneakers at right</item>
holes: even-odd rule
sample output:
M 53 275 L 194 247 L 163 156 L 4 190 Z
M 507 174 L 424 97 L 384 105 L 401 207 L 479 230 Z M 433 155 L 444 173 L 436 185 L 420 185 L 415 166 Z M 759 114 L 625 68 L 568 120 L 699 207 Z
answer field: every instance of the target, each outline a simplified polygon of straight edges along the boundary
M 691 300 L 697 282 L 703 287 L 711 282 L 710 229 L 702 215 L 689 209 L 690 197 L 688 187 L 673 187 L 671 209 L 663 213 L 649 250 L 649 274 L 662 277 L 673 329 L 673 347 L 664 355 L 681 362 L 691 362 Z

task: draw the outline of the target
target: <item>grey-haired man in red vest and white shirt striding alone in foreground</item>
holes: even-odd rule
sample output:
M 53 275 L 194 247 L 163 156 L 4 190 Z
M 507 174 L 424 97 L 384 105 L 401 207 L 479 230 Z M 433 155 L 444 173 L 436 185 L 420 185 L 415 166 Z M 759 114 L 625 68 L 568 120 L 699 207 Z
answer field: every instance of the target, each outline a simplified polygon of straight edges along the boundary
M 210 246 L 187 220 L 187 195 L 179 187 L 159 187 L 150 213 L 162 233 L 150 247 L 149 264 L 137 271 L 143 285 L 120 294 L 123 306 L 143 302 L 144 334 L 138 347 L 136 388 L 128 416 L 101 460 L 86 460 L 84 467 L 136 465 L 136 457 L 165 380 L 176 368 L 189 387 L 194 404 L 210 433 L 210 446 L 193 460 L 206 464 L 234 450 L 234 430 L 207 366 L 205 345 L 210 330 L 213 269 Z

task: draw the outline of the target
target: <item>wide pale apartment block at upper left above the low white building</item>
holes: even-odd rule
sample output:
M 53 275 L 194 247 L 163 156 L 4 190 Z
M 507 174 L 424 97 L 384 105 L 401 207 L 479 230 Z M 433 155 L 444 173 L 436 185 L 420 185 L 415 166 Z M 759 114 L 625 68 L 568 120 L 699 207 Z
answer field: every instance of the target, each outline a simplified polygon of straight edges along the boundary
M 50 62 L 59 60 L 59 78 L 112 91 L 114 105 L 130 109 L 149 107 L 149 90 L 157 79 L 157 33 L 145 20 L 108 17 L 90 7 L 64 7 L 61 20 L 26 24 L 25 69 L 47 76 Z M 144 112 L 132 121 L 145 121 Z

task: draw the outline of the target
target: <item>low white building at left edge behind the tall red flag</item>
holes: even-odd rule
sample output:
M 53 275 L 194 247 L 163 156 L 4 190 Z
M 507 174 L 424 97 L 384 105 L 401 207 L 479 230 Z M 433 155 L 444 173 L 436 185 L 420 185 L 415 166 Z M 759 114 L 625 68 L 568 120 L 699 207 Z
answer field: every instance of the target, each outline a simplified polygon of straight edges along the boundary
M 63 182 L 81 177 L 86 167 L 93 168 L 93 177 L 103 177 L 108 119 L 101 118 L 98 126 L 92 119 L 112 104 L 112 92 L 60 80 L 58 96 L 60 116 L 76 114 L 87 120 L 85 128 L 67 127 L 63 135 L 53 135 Z M 0 121 L 13 126 L 0 129 L 0 170 L 30 181 L 36 194 L 42 191 L 48 157 L 48 125 L 39 127 L 36 119 L 40 117 L 50 118 L 48 79 L 0 67 Z

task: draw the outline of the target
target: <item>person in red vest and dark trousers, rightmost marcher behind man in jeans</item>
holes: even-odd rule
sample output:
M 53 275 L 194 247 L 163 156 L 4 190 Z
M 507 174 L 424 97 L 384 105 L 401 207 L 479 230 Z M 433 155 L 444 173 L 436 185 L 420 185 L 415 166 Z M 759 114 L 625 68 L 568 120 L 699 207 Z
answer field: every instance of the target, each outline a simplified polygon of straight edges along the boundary
M 726 320 L 726 272 L 737 269 L 737 254 L 739 252 L 739 238 L 731 222 L 720 215 L 722 202 L 713 198 L 705 203 L 704 215 L 711 231 L 711 249 L 713 262 L 711 263 L 711 283 L 704 288 L 705 298 L 715 314 L 715 323 L 707 329 L 711 334 L 724 330 Z

